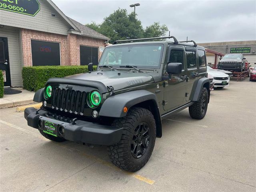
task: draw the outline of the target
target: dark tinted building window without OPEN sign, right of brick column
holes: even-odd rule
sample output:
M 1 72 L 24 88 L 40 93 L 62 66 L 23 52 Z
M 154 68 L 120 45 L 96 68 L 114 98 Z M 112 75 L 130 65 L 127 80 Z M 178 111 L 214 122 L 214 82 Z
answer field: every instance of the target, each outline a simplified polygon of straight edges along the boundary
M 80 65 L 98 65 L 98 47 L 80 46 Z

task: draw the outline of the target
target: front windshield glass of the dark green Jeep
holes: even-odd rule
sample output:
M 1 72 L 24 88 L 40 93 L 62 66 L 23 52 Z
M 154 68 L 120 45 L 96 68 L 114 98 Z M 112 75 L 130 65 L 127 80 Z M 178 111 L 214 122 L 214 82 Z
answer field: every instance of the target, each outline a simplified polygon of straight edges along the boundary
M 106 47 L 100 58 L 99 67 L 130 65 L 138 68 L 160 68 L 163 49 L 163 44 Z

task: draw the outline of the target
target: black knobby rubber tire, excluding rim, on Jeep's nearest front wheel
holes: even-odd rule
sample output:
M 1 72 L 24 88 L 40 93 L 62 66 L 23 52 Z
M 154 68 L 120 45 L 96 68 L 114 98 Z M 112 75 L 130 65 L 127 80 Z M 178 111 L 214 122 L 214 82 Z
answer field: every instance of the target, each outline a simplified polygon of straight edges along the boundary
M 149 130 L 149 143 L 146 151 L 140 158 L 135 158 L 131 152 L 132 138 L 136 127 L 146 122 Z M 111 162 L 119 168 L 135 172 L 140 170 L 149 160 L 156 141 L 156 122 L 152 113 L 145 108 L 131 108 L 123 118 L 114 120 L 113 126 L 124 128 L 121 140 L 112 146 L 108 146 L 108 155 Z

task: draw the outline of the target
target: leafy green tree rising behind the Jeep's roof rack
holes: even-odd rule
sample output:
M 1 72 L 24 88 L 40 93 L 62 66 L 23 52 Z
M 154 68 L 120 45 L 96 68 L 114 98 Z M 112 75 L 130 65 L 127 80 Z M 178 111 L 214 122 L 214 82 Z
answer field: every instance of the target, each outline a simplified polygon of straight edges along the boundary
M 136 16 L 134 12 L 128 14 L 126 9 L 119 8 L 104 18 L 101 24 L 91 22 L 86 26 L 109 37 L 111 39 L 110 43 L 116 40 L 158 37 L 168 31 L 167 26 L 161 26 L 159 22 L 154 22 L 154 24 L 143 29 L 140 20 Z

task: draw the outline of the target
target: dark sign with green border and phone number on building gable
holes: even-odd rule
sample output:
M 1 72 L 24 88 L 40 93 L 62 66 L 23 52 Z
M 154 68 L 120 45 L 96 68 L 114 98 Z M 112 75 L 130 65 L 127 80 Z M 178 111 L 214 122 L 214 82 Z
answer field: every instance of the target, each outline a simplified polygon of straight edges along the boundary
M 35 16 L 40 4 L 37 0 L 0 0 L 0 9 Z

